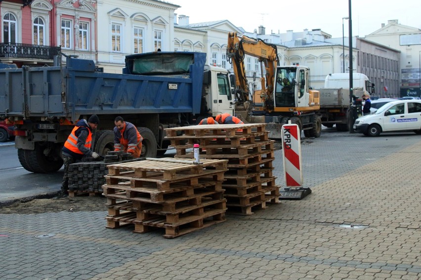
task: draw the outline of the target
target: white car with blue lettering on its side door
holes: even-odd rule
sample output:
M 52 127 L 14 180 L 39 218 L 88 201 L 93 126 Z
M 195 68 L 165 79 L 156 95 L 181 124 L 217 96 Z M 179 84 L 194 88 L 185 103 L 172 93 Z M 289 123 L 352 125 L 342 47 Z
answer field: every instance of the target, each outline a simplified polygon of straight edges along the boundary
M 374 114 L 355 120 L 354 130 L 366 136 L 381 132 L 414 131 L 421 134 L 421 100 L 396 100 L 381 106 Z

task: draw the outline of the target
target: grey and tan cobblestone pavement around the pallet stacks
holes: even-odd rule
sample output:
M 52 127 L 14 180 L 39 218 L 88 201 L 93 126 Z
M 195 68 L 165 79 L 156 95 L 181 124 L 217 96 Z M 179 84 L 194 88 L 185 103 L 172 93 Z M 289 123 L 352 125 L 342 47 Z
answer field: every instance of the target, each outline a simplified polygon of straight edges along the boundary
M 305 199 L 175 239 L 106 229 L 106 211 L 3 214 L 0 279 L 418 280 L 420 166 L 415 134 L 324 134 L 302 144 Z

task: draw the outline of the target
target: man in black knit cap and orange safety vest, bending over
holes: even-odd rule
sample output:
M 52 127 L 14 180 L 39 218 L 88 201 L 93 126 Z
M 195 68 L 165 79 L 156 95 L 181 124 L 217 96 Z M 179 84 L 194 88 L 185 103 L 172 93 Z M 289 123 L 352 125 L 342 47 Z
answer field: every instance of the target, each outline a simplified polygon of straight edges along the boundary
M 82 119 L 76 123 L 64 146 L 62 148 L 64 161 L 64 175 L 61 184 L 62 195 L 69 194 L 69 165 L 82 160 L 83 157 L 91 156 L 95 159 L 100 155 L 91 151 L 92 131 L 97 128 L 99 118 L 97 115 L 91 115 L 86 121 Z

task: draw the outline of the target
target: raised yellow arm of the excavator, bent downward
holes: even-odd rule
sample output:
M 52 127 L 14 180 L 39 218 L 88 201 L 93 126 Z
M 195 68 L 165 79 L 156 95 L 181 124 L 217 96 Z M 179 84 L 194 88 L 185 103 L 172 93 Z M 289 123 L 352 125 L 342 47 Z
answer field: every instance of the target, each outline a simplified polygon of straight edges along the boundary
M 227 60 L 232 63 L 237 77 L 237 102 L 241 105 L 250 102 L 250 89 L 246 78 L 244 57 L 250 55 L 259 59 L 264 64 L 266 77 L 261 67 L 261 97 L 266 109 L 273 109 L 273 89 L 275 70 L 279 65 L 278 50 L 276 45 L 268 44 L 261 39 L 249 38 L 245 35 L 239 37 L 236 32 L 228 34 Z

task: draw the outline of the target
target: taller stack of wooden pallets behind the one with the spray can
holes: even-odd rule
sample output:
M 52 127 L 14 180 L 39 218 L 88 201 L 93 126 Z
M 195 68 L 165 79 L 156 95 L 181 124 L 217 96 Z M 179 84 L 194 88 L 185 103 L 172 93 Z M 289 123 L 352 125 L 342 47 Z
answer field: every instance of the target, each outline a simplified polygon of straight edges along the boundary
M 222 184 L 228 210 L 251 215 L 252 208 L 279 203 L 279 187 L 272 174 L 274 142 L 269 140 L 265 124 L 198 125 L 166 132 L 176 158 L 192 158 L 191 148 L 199 144 L 201 158 L 228 160 Z

